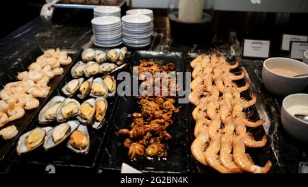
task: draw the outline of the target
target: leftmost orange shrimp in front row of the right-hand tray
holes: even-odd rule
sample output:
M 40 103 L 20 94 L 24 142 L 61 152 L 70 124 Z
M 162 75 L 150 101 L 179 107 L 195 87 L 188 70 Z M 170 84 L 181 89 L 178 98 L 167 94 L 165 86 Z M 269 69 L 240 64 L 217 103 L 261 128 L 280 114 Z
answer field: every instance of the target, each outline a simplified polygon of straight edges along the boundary
M 209 140 L 209 135 L 207 132 L 203 132 L 201 134 L 198 134 L 196 139 L 194 139 L 194 142 L 192 142 L 192 145 L 190 146 L 190 151 L 192 151 L 192 155 L 198 162 L 201 162 L 205 166 L 208 166 L 205 157 L 204 152 L 208 147 L 207 141 Z

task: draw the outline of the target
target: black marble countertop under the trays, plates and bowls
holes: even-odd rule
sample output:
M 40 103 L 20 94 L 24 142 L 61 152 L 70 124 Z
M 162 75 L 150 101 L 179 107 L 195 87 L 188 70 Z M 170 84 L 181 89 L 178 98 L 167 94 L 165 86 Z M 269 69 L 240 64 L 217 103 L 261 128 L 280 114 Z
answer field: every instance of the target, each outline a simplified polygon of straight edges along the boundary
M 92 39 L 90 20 L 92 11 L 88 10 L 59 10 L 53 19 L 35 18 L 23 27 L 12 32 L 0 40 L 0 67 L 8 69 L 12 64 L 18 64 L 29 55 L 35 47 L 68 47 L 85 48 L 95 47 Z M 153 42 L 144 50 L 151 51 L 181 51 L 183 53 L 203 53 L 219 50 L 230 53 L 229 45 L 194 45 L 184 44 L 179 39 L 172 38 L 168 18 L 155 17 L 155 35 Z M 130 49 L 133 51 L 133 49 Z M 238 54 L 235 51 L 235 55 Z M 298 173 L 299 162 L 308 162 L 308 147 L 289 135 L 281 125 L 280 108 L 283 98 L 270 95 L 257 78 L 255 69 L 261 72 L 261 60 L 242 60 L 242 65 L 248 71 L 253 86 L 259 95 L 270 123 L 265 127 L 272 149 L 281 169 L 281 173 Z M 1 79 L 1 77 L 0 77 Z M 308 92 L 307 89 L 305 92 Z M 12 164 L 0 162 L 1 172 L 14 172 Z M 97 171 L 94 171 L 97 172 Z

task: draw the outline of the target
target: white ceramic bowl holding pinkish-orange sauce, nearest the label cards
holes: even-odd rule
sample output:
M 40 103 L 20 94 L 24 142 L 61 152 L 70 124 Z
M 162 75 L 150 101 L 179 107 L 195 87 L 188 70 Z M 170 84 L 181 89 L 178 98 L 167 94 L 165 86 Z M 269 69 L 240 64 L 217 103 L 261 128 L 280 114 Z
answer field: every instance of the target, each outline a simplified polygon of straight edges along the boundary
M 268 58 L 264 61 L 262 79 L 266 89 L 274 95 L 286 96 L 303 91 L 308 85 L 308 76 L 290 77 L 275 73 L 272 68 L 283 68 L 298 74 L 308 73 L 308 65 L 291 58 Z

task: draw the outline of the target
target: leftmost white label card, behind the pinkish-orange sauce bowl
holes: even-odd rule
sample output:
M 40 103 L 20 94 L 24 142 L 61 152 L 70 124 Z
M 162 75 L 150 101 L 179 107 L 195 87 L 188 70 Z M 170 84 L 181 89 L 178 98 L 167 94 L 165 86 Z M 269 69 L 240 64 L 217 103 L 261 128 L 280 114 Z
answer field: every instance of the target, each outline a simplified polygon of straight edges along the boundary
M 268 58 L 270 56 L 269 40 L 244 39 L 243 57 Z

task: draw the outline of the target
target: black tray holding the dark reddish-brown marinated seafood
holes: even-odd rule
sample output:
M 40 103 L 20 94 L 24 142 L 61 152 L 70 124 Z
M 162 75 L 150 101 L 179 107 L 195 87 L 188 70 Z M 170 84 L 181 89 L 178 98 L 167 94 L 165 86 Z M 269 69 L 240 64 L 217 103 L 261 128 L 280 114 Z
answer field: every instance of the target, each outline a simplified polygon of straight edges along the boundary
M 158 53 L 154 51 L 136 51 L 133 54 L 131 70 L 133 66 L 138 66 L 140 60 L 164 60 L 165 63 L 174 62 L 176 71 L 185 72 L 185 58 L 182 53 Z M 131 71 L 132 73 L 132 71 Z M 132 79 L 132 77 L 131 77 Z M 189 173 L 190 153 L 188 152 L 188 127 L 186 104 L 177 103 L 179 113 L 175 114 L 175 119 L 168 132 L 172 135 L 169 142 L 168 157 L 164 159 L 146 157 L 130 160 L 127 156 L 128 149 L 123 145 L 124 138 L 117 135 L 119 129 L 129 128 L 133 118 L 133 112 L 140 112 L 139 99 L 133 96 L 119 97 L 118 109 L 112 121 L 110 135 L 107 138 L 106 148 L 103 153 L 101 168 L 103 170 L 120 171 L 121 164 L 125 162 L 135 169 L 150 173 Z

